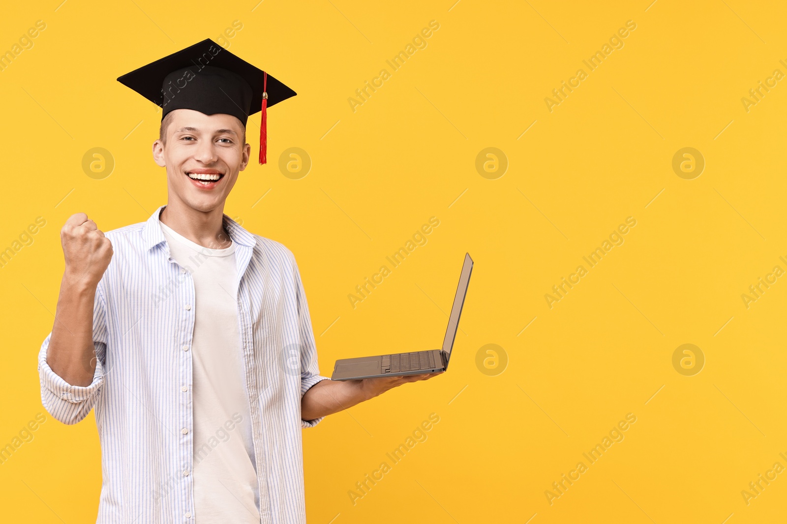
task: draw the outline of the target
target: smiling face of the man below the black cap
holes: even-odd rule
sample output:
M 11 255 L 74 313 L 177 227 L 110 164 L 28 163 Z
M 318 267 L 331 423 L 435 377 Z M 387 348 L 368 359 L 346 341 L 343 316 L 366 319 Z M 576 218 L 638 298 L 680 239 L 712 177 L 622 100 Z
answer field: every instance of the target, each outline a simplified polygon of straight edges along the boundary
M 167 168 L 170 197 L 198 211 L 223 207 L 238 172 L 249 163 L 243 126 L 233 115 L 205 115 L 192 109 L 172 111 L 167 143 L 153 142 L 153 159 Z

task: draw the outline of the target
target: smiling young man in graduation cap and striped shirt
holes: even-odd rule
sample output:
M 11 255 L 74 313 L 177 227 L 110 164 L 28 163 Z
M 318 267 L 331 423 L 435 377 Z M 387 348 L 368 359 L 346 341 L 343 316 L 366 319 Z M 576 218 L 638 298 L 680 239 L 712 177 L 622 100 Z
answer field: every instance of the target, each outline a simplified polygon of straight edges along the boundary
M 210 40 L 119 80 L 163 109 L 168 202 L 107 233 L 63 226 L 43 405 L 67 424 L 95 410 L 98 522 L 305 522 L 301 427 L 439 373 L 321 376 L 294 255 L 224 214 L 248 115 L 262 163 L 267 106 L 294 91 Z

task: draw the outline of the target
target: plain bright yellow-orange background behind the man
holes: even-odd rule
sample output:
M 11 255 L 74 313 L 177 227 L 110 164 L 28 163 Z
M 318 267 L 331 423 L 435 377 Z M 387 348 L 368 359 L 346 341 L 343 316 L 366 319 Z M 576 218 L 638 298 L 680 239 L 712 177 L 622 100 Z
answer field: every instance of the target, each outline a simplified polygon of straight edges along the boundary
M 784 474 L 741 495 L 787 466 L 787 283 L 741 299 L 787 269 L 787 87 L 741 101 L 787 72 L 782 2 L 256 3 L 4 6 L 0 52 L 36 20 L 46 29 L 0 71 L 0 250 L 46 225 L 0 268 L 0 445 L 42 412 L 36 357 L 66 218 L 84 211 L 109 230 L 166 202 L 150 154 L 160 116 L 116 78 L 238 20 L 225 45 L 298 95 L 269 112 L 269 162 L 241 174 L 225 212 L 294 252 L 321 372 L 439 347 L 462 257 L 475 259 L 449 372 L 304 431 L 309 522 L 784 520 Z M 348 99 L 430 20 L 426 46 L 353 112 Z M 623 46 L 550 112 L 545 98 L 627 20 Z M 109 152 L 111 173 L 89 176 L 91 148 Z M 290 148 L 308 156 L 305 176 L 287 170 Z M 498 152 L 478 170 L 486 148 Z M 673 169 L 682 148 L 701 173 Z M 432 216 L 427 244 L 353 309 L 347 295 Z M 627 217 L 623 244 L 550 308 L 545 294 Z M 693 375 L 696 363 L 673 365 L 687 343 L 704 357 Z M 356 482 L 430 413 L 427 439 L 353 504 Z M 550 505 L 552 482 L 628 413 L 623 441 Z M 93 415 L 74 427 L 47 416 L 31 435 L 0 465 L 4 520 L 93 522 Z

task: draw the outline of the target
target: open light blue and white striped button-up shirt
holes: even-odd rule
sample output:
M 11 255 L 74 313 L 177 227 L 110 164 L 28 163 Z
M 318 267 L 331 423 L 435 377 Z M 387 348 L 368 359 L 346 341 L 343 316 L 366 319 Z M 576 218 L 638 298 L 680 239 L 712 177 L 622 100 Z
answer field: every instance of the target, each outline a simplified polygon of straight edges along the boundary
M 159 207 L 105 233 L 114 255 L 94 301 L 96 366 L 72 386 L 39 352 L 41 398 L 66 424 L 94 409 L 102 449 L 99 523 L 194 524 L 194 280 L 170 256 Z M 260 522 L 306 522 L 301 398 L 321 376 L 309 306 L 292 252 L 224 214 L 236 246 L 238 328 L 260 490 Z M 220 444 L 219 444 L 220 445 Z M 197 522 L 197 524 L 200 524 Z M 201 522 L 201 524 L 212 524 Z

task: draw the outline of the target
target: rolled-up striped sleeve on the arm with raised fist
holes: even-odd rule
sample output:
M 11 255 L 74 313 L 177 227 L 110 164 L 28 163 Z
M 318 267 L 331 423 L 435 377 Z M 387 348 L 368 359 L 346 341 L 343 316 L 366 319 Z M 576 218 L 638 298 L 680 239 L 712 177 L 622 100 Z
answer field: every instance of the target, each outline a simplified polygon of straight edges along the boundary
M 52 332 L 46 335 L 39 350 L 39 379 L 41 401 L 47 412 L 65 424 L 76 424 L 91 411 L 104 383 L 104 364 L 107 340 L 106 302 L 102 285 L 98 285 L 93 305 L 93 344 L 96 368 L 89 386 L 72 386 L 52 371 L 46 363 Z

